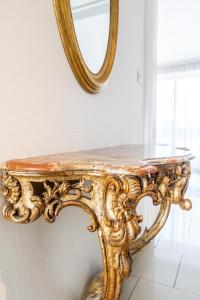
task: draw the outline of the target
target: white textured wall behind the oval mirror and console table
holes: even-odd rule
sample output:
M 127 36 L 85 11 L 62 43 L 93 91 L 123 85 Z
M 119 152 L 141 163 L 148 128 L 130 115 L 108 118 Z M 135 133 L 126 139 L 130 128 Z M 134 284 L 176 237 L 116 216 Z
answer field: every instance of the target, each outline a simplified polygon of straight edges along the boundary
M 144 0 L 120 1 L 107 88 L 85 93 L 66 61 L 49 0 L 0 2 L 0 161 L 143 142 Z M 16 225 L 0 218 L 0 299 L 78 300 L 98 271 L 97 237 L 84 213 Z

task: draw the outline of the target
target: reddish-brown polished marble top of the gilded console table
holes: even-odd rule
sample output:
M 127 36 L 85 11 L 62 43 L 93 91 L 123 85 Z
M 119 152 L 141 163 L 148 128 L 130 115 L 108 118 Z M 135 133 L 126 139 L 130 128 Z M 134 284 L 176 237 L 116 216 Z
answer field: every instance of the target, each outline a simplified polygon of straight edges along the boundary
M 19 172 L 66 172 L 70 170 L 104 171 L 107 173 L 144 175 L 154 173 L 160 164 L 188 161 L 188 149 L 164 145 L 122 145 L 88 151 L 9 160 L 1 169 Z

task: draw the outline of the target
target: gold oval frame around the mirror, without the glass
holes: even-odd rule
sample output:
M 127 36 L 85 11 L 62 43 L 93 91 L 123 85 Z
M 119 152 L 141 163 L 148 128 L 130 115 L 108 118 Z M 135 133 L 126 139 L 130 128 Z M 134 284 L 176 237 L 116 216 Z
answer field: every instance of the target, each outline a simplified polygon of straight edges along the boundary
M 70 0 L 54 0 L 58 28 L 72 71 L 81 86 L 89 93 L 98 93 L 106 85 L 112 70 L 118 35 L 119 0 L 110 0 L 110 29 L 108 47 L 100 71 L 92 73 L 87 67 L 76 37 Z

